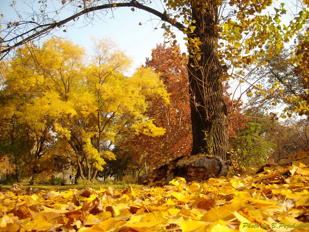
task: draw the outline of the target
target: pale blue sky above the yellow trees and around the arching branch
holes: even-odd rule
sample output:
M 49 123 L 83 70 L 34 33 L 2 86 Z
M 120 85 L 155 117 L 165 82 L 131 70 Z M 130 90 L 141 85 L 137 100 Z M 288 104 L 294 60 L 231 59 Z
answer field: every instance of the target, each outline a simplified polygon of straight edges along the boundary
M 38 1 L 35 3 L 38 4 Z M 59 0 L 57 1 L 59 2 Z M 54 2 L 56 0 L 53 2 L 49 0 L 47 4 Z M 10 7 L 11 4 L 11 0 L 0 0 L 0 14 L 3 14 L 4 20 L 14 21 L 17 17 L 13 8 Z M 29 9 L 28 12 L 30 12 L 30 8 L 22 1 L 16 0 L 15 7 L 20 12 L 26 9 Z M 168 41 L 163 37 L 162 22 L 160 23 L 158 18 L 140 9 L 135 9 L 134 12 L 130 7 L 114 9 L 113 14 L 109 13 L 104 19 L 87 26 L 83 26 L 83 20 L 84 16 L 80 17 L 78 24 L 61 28 L 54 34 L 71 39 L 86 49 L 91 47 L 91 37 L 110 37 L 121 49 L 125 50 L 127 55 L 133 58 L 133 68 L 145 63 L 146 57 L 150 57 L 151 49 L 155 48 L 157 43 Z M 139 23 L 142 25 L 140 26 Z M 155 30 L 155 27 L 158 29 Z M 67 32 L 63 32 L 64 29 Z M 182 32 L 177 32 L 176 40 L 180 43 L 182 52 L 186 52 L 184 35 Z

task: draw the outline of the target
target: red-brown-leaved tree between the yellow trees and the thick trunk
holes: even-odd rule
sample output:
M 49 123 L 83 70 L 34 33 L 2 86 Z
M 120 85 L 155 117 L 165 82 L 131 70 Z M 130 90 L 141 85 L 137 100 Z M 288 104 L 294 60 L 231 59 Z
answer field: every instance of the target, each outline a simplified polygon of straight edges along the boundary
M 117 142 L 118 153 L 132 157 L 132 165 L 139 174 L 141 170 L 147 173 L 180 154 L 190 155 L 192 149 L 186 57 L 180 53 L 179 46 L 160 44 L 152 49 L 151 57 L 146 59 L 146 67 L 160 74 L 169 102 L 157 98 L 146 113 L 147 117 L 155 118 L 156 126 L 166 129 L 164 135 L 133 133 Z

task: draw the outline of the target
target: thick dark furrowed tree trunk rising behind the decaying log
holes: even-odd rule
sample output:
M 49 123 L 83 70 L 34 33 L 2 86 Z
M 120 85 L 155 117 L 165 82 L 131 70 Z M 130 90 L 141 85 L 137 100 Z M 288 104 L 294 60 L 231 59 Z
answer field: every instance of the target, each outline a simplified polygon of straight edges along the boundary
M 196 21 L 192 26 L 196 28 L 189 34 L 192 155 L 203 152 L 226 161 L 229 116 L 223 98 L 223 69 L 218 59 L 218 37 L 215 33 L 218 8 L 215 4 L 202 8 L 201 5 L 192 6 L 192 20 Z

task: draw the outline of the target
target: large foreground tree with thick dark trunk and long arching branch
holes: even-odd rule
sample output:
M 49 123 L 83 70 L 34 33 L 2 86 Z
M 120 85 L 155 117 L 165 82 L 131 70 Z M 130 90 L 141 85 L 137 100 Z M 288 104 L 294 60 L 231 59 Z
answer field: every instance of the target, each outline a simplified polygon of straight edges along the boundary
M 171 25 L 187 35 L 185 40 L 188 41 L 187 66 L 193 132 L 192 154 L 203 151 L 225 161 L 228 152 L 229 116 L 223 97 L 223 73 L 232 66 L 240 69 L 235 76 L 243 79 L 243 70 L 249 64 L 263 65 L 258 62 L 258 59 L 266 56 L 265 50 L 262 49 L 265 43 L 272 43 L 277 49 L 276 51 L 268 49 L 270 54 L 279 54 L 283 43 L 289 42 L 294 33 L 307 23 L 309 13 L 304 9 L 288 26 L 282 25 L 281 27 L 280 17 L 286 13 L 283 8 L 284 3 L 281 3 L 279 9 L 274 8 L 275 13 L 271 17 L 261 14 L 263 9 L 272 4 L 272 1 L 268 0 L 255 3 L 238 0 L 229 2 L 166 0 L 164 2 L 166 2 L 166 9 L 164 12 L 159 12 L 148 6 L 146 2 L 123 1 L 118 3 L 92 2 L 91 0 L 67 2 L 64 0 L 62 10 L 71 8 L 75 12 L 66 19 L 57 21 L 51 16 L 47 19 L 42 9 L 41 13 L 36 14 L 36 18 L 32 16 L 32 21 L 36 22 L 33 24 L 35 26 L 31 27 L 30 23 L 23 21 L 8 23 L 6 29 L 8 33 L 3 36 L 8 47 L 1 53 L 7 54 L 14 47 L 49 33 L 53 28 L 60 28 L 84 14 L 89 16 L 95 11 L 101 11 L 104 14 L 108 9 L 117 7 L 130 7 L 132 11 L 138 8 L 150 12 L 165 21 L 162 25 L 166 31 L 165 37 L 171 39 L 175 37 L 171 32 Z M 224 9 L 228 3 L 233 6 L 229 12 L 218 12 L 219 7 Z M 83 10 L 77 12 L 78 7 Z M 55 12 L 58 14 L 58 11 Z M 220 25 L 219 20 L 221 20 Z M 15 29 L 17 35 L 13 35 Z M 220 42 L 219 44 L 219 38 L 227 43 Z M 176 41 L 171 41 L 171 43 L 175 44 Z M 218 48 L 222 50 L 220 55 Z M 228 65 L 225 66 L 224 61 Z

